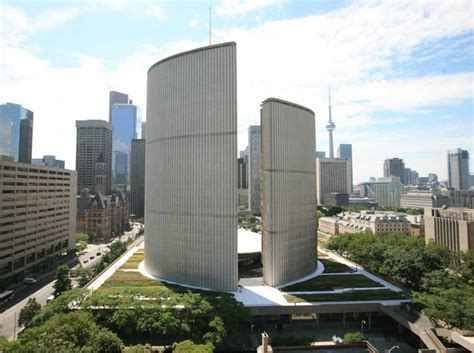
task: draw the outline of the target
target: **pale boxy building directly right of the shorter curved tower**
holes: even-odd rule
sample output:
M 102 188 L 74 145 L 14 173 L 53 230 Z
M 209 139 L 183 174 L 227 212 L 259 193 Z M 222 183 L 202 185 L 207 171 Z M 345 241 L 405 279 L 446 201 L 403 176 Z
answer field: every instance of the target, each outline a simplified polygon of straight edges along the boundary
M 348 193 L 347 159 L 316 158 L 316 197 L 319 205 L 326 204 L 331 193 Z

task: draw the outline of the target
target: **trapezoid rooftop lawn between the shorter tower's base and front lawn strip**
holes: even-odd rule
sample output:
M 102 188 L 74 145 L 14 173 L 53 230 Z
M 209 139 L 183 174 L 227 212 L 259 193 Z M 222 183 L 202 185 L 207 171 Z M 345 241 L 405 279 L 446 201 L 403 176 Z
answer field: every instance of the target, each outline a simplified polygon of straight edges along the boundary
M 305 282 L 282 288 L 285 292 L 327 291 L 335 288 L 375 288 L 383 287 L 380 283 L 360 274 L 318 276 Z

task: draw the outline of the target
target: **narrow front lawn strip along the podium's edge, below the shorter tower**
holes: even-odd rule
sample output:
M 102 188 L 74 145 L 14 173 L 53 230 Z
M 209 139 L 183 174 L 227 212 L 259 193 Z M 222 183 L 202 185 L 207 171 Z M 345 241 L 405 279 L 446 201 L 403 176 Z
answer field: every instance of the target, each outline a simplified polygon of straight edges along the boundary
M 397 293 L 390 289 L 353 291 L 350 293 L 337 294 L 285 294 L 284 296 L 289 303 L 408 299 L 403 292 Z

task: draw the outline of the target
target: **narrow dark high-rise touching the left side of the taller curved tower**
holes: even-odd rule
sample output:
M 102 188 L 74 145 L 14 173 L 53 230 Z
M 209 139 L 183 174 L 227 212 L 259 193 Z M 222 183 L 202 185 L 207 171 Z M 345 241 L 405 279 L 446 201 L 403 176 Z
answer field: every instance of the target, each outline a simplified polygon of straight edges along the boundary
M 130 206 L 136 217 L 145 216 L 145 139 L 132 140 L 130 156 Z

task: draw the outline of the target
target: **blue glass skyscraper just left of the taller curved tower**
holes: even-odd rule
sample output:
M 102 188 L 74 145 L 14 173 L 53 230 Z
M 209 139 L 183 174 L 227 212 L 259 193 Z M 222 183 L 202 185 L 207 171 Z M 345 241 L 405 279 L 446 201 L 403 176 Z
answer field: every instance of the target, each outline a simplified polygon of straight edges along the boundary
M 141 129 L 138 108 L 133 104 L 112 105 L 112 184 L 123 191 L 129 189 L 132 140 Z

